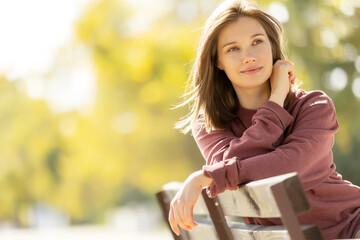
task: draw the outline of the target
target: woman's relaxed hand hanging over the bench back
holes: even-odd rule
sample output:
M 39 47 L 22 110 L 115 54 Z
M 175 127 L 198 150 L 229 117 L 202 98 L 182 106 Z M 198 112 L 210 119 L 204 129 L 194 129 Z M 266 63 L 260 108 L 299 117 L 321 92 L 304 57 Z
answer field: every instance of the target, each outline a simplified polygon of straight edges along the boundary
M 212 179 L 206 177 L 202 170 L 194 172 L 185 180 L 171 201 L 169 223 L 176 235 L 180 234 L 177 225 L 185 230 L 197 227 L 198 224 L 194 222 L 193 208 L 203 187 L 209 186 L 211 182 Z

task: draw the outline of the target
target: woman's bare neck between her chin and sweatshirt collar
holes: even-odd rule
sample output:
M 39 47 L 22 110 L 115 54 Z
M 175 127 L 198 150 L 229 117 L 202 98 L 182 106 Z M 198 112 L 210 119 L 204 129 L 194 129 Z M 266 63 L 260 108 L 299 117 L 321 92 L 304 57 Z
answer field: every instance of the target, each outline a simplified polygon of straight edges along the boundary
M 270 82 L 256 88 L 235 89 L 235 92 L 243 108 L 256 110 L 269 100 Z

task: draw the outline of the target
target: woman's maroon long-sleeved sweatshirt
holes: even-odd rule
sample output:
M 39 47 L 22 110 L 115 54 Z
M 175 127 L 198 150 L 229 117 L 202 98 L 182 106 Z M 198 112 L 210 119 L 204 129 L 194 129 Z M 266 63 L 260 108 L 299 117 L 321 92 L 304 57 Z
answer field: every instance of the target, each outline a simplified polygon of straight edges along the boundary
M 206 159 L 204 174 L 213 179 L 210 197 L 239 184 L 297 172 L 311 211 L 301 224 L 316 224 L 325 239 L 351 238 L 360 229 L 360 188 L 335 169 L 332 147 L 338 129 L 335 107 L 321 91 L 294 90 L 288 106 L 267 101 L 257 110 L 239 108 L 226 130 L 207 133 L 203 118 L 193 126 Z M 246 218 L 247 223 L 279 225 L 277 218 Z

